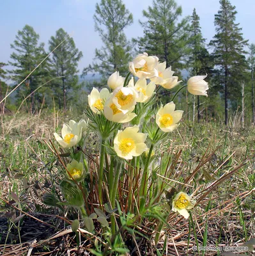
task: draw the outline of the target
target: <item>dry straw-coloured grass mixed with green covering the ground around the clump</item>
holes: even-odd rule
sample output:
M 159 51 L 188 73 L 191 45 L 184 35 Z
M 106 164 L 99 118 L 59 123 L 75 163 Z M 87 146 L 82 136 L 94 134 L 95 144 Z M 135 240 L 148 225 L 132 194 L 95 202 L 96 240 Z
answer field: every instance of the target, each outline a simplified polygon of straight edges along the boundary
M 78 234 L 82 242 L 77 248 L 70 228 L 72 221 L 42 201 L 43 194 L 50 192 L 53 184 L 56 187 L 59 184 L 58 163 L 55 160 L 49 164 L 56 157 L 42 140 L 49 141 L 68 116 L 19 114 L 11 128 L 10 120 L 12 116 L 1 118 L 0 195 L 5 202 L 1 202 L 0 255 L 91 255 L 86 254 L 87 249 L 95 239 L 100 241 L 100 227 L 93 236 L 80 228 Z M 192 212 L 193 225 L 178 214 L 170 214 L 169 227 L 160 232 L 157 244 L 160 250 L 167 241 L 164 255 L 198 255 L 192 246 L 203 244 L 206 232 L 207 246 L 240 246 L 255 237 L 254 138 L 252 128 L 227 131 L 215 124 L 183 123 L 178 132 L 161 145 L 162 151 L 174 148 L 171 154 L 175 154 L 176 164 L 168 178 L 184 182 L 187 190 L 191 186 L 198 203 Z M 90 168 L 95 172 L 98 159 L 95 155 L 90 157 Z M 123 189 L 119 191 L 121 205 L 125 205 L 128 193 L 125 180 L 128 177 L 123 177 Z M 93 195 L 89 198 L 91 204 L 96 203 L 93 198 Z M 144 235 L 157 234 L 151 221 L 138 228 Z M 143 237 L 135 240 L 127 236 L 127 239 L 130 239 L 132 255 L 156 255 L 151 251 L 153 246 Z M 206 252 L 205 255 L 216 254 Z M 249 255 L 255 254 L 249 252 Z

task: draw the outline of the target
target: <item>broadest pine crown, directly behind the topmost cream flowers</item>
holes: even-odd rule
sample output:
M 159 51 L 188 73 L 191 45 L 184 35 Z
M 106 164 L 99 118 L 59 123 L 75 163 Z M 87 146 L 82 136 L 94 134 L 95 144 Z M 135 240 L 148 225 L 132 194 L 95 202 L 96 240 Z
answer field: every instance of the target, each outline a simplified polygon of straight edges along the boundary
M 175 71 L 182 69 L 189 54 L 189 17 L 178 22 L 182 7 L 174 0 L 153 0 L 153 6 L 143 10 L 143 16 L 146 21 L 140 24 L 144 36 L 134 40 L 139 53 L 156 55 Z

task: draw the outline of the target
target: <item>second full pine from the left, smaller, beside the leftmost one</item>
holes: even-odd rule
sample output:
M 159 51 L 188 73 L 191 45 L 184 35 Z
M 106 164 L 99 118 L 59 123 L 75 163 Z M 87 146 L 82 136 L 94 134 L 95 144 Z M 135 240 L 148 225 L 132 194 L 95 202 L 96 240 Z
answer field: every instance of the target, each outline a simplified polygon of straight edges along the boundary
M 70 90 L 75 90 L 78 86 L 79 77 L 77 76 L 77 72 L 79 70 L 77 67 L 78 61 L 82 58 L 82 52 L 75 47 L 73 38 L 69 38 L 68 33 L 62 28 L 56 31 L 55 36 L 51 36 L 49 50 L 53 51 L 58 45 L 59 47 L 52 52 L 50 69 L 51 76 L 61 76 L 61 79 L 55 80 L 52 83 L 52 88 L 55 97 L 58 99 L 59 109 L 62 107 L 63 102 L 63 108 L 66 111 L 66 95 L 68 95 Z

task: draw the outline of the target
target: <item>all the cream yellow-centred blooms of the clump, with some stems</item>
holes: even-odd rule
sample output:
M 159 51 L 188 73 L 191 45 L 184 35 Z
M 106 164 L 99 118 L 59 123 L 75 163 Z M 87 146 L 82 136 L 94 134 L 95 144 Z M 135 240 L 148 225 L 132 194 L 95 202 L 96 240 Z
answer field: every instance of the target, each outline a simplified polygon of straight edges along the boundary
M 134 77 L 130 77 L 128 80 L 131 74 Z M 148 160 L 144 164 L 144 176 L 141 179 L 143 189 L 141 191 L 146 195 L 148 166 L 150 165 L 150 157 L 155 154 L 153 147 L 158 141 L 166 137 L 167 132 L 173 132 L 178 127 L 183 115 L 182 110 L 175 110 L 175 104 L 171 100 L 164 106 L 161 104 L 157 107 L 158 105 L 155 104 L 157 103 L 157 92 L 160 88 L 169 90 L 182 82 L 178 81 L 178 76 L 173 76 L 173 74 L 174 71 L 171 67 L 166 67 L 166 61 L 160 63 L 156 56 L 148 56 L 146 52 L 138 54 L 129 63 L 127 77 L 121 77 L 119 72 L 116 71 L 107 81 L 109 88 L 102 88 L 100 91 L 93 88 L 88 95 L 90 110 L 87 117 L 89 125 L 84 120 L 80 120 L 78 123 L 70 120 L 69 124 L 63 125 L 61 136 L 54 133 L 56 140 L 63 148 L 72 148 L 75 145 L 81 146 L 82 133 L 89 126 L 100 133 L 102 140 L 105 141 L 111 138 L 109 147 L 121 159 L 128 161 L 141 156 L 145 152 L 144 156 L 146 155 Z M 187 82 L 187 90 L 193 95 L 207 96 L 208 83 L 204 81 L 205 77 L 191 77 Z M 157 92 L 155 92 L 156 88 Z M 155 109 L 155 112 L 151 112 L 150 128 L 148 129 L 148 119 L 146 121 L 146 118 L 143 119 L 143 117 L 151 109 Z M 133 122 L 133 125 L 127 125 L 128 122 Z M 114 124 L 116 125 L 114 126 Z M 121 124 L 125 124 L 123 129 L 120 129 Z M 100 170 L 98 170 L 98 188 L 101 190 L 104 177 L 104 147 L 105 145 L 102 142 Z M 67 180 L 80 182 L 84 177 L 83 164 L 77 159 L 73 159 L 72 162 L 67 164 L 65 175 Z M 111 178 L 111 175 L 109 177 Z M 118 176 L 116 179 L 118 179 Z M 101 190 L 98 193 L 100 204 L 102 203 Z M 180 192 L 173 200 L 173 211 L 178 211 L 185 218 L 188 218 L 189 212 L 187 212 L 187 209 L 191 209 L 193 205 L 190 197 Z

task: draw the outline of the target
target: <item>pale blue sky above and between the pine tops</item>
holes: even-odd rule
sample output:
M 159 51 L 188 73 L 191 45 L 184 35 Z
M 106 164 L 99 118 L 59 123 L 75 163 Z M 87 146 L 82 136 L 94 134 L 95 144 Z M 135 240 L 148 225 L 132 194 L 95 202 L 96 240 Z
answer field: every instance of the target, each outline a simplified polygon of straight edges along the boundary
M 98 0 L 99 1 L 99 0 Z M 97 0 L 0 0 L 0 62 L 10 60 L 12 49 L 10 44 L 15 40 L 18 30 L 25 24 L 33 26 L 40 35 L 40 42 L 45 42 L 46 51 L 50 36 L 55 35 L 59 28 L 65 29 L 73 36 L 76 46 L 83 52 L 79 63 L 80 72 L 92 63 L 95 48 L 102 42 L 95 32 L 93 14 Z M 196 8 L 200 17 L 203 36 L 209 42 L 215 34 L 214 15 L 219 10 L 219 0 L 176 0 L 183 8 L 183 17 L 191 15 Z M 143 35 L 138 20 L 143 20 L 142 11 L 152 4 L 152 0 L 123 0 L 126 7 L 133 13 L 134 23 L 125 33 L 127 38 Z M 245 39 L 249 44 L 255 43 L 255 0 L 231 0 L 238 14 L 236 22 L 243 28 Z

